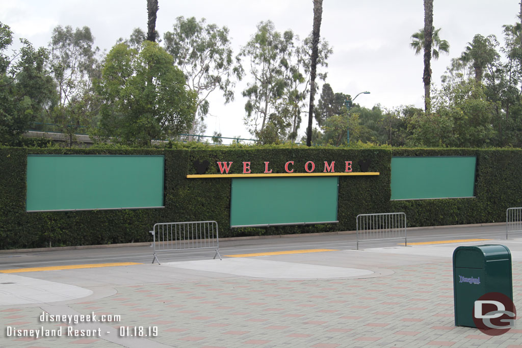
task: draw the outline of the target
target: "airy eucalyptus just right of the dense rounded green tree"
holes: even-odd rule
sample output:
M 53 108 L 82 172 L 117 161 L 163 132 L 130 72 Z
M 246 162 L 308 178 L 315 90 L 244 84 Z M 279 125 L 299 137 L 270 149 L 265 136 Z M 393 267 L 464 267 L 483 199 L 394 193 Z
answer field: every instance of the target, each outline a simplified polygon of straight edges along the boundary
M 191 126 L 194 134 L 197 121 L 203 122 L 208 114 L 209 94 L 219 90 L 225 103 L 233 101 L 235 80 L 241 79 L 243 70 L 235 64 L 229 29 L 207 24 L 204 18 L 177 17 L 163 39 L 165 50 L 185 74 L 186 85 L 197 95 L 198 117 Z

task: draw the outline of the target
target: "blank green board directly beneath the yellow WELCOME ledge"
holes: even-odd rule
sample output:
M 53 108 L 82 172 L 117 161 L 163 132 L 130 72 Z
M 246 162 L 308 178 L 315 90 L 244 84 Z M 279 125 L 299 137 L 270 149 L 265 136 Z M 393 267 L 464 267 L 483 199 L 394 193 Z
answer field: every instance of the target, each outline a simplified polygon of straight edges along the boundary
M 338 178 L 232 179 L 230 225 L 337 222 Z

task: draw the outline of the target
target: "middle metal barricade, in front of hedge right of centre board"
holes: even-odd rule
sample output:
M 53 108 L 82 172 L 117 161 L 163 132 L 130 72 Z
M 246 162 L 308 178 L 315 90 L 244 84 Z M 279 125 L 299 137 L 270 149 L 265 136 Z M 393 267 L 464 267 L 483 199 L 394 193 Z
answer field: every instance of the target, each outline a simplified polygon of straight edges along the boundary
M 382 213 L 357 215 L 357 250 L 359 242 L 404 239 L 406 246 L 406 214 Z

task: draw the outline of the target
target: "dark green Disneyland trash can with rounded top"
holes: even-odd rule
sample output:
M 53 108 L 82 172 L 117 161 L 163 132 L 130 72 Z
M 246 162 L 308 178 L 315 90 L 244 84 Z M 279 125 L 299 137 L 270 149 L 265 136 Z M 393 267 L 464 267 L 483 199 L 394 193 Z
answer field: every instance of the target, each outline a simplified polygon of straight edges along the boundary
M 511 253 L 504 245 L 459 246 L 453 251 L 455 326 L 476 328 L 474 302 L 497 292 L 513 301 Z

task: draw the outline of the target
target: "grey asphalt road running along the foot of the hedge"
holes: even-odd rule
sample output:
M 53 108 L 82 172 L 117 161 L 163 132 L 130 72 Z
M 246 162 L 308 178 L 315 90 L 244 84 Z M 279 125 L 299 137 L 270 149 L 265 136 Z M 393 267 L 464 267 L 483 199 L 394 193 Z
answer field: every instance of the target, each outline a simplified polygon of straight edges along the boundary
M 487 226 L 452 226 L 425 229 L 408 229 L 408 243 L 453 241 L 455 239 L 504 239 L 505 224 Z M 522 234 L 513 235 L 522 237 Z M 267 253 L 299 249 L 355 249 L 355 234 L 298 235 L 282 238 L 241 239 L 220 241 L 222 257 L 233 254 Z M 375 241 L 360 243 L 360 249 L 397 246 L 400 241 Z M 477 245 L 487 244 L 479 241 Z M 149 246 L 110 247 L 74 250 L 25 251 L 23 253 L 1 253 L 0 270 L 49 267 L 63 265 L 82 265 L 88 263 L 138 262 L 151 263 L 153 250 Z M 162 251 L 158 257 L 161 262 L 202 260 L 212 258 L 211 249 L 188 249 Z

